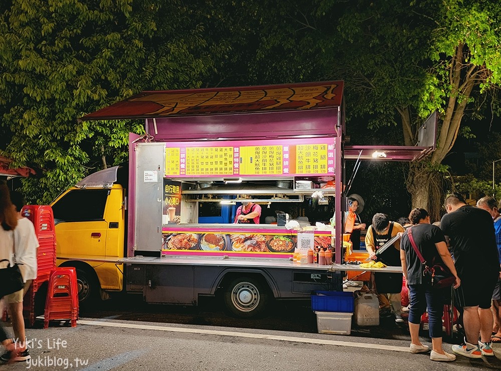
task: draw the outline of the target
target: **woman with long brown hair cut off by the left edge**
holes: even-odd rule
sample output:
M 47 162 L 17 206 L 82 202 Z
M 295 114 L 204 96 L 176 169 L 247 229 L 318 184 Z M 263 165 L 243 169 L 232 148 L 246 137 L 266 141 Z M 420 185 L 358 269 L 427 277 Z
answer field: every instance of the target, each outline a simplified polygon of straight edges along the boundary
M 3 269 L 13 264 L 14 228 L 18 225 L 16 210 L 11 202 L 9 187 L 3 182 L 0 182 L 0 223 L 2 224 L 0 228 L 0 260 L 7 260 L 0 263 L 0 269 Z M 0 313 L 3 313 L 3 308 L 0 308 Z M 1 320 L 0 342 L 2 342 L 7 351 L 11 352 L 11 358 L 18 355 L 20 349 L 16 346 L 12 336 L 7 333 Z

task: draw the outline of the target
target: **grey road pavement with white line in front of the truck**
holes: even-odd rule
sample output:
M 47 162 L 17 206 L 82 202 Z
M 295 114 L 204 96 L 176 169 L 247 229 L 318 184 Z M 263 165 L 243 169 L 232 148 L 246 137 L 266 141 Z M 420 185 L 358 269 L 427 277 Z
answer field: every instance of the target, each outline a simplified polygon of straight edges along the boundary
M 409 339 L 81 318 L 28 329 L 31 362 L 1 370 L 498 370 L 495 357 L 433 362 L 407 351 Z M 427 341 L 423 338 L 422 341 Z M 426 342 L 429 343 L 429 342 Z M 450 350 L 450 344 L 444 348 Z

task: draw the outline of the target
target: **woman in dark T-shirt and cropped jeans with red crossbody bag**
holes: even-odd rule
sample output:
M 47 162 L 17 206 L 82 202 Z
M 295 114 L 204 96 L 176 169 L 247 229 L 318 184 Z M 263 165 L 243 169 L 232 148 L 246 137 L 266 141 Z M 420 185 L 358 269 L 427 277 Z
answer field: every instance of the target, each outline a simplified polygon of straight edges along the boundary
M 411 336 L 411 353 L 425 353 L 430 350 L 428 345 L 419 341 L 419 326 L 421 316 L 428 308 L 428 324 L 432 342 L 430 359 L 435 361 L 452 361 L 454 354 L 442 349 L 442 316 L 443 290 L 449 288 L 433 287 L 434 277 L 428 274 L 425 262 L 443 262 L 453 279 L 453 287 L 460 285 L 454 263 L 450 257 L 445 236 L 440 228 L 430 224 L 430 217 L 425 209 L 415 208 L 409 214 L 412 226 L 402 235 L 400 242 L 400 260 L 402 270 L 407 281 L 410 296 L 409 331 Z M 421 259 L 423 258 L 423 259 Z

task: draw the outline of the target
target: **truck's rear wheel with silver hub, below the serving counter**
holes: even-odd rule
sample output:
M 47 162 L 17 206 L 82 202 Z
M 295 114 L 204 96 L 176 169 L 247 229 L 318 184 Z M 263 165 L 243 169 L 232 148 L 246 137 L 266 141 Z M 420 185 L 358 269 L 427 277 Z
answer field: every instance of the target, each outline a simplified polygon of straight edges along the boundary
M 268 287 L 252 277 L 235 278 L 224 291 L 224 303 L 229 313 L 240 318 L 253 318 L 264 313 L 270 302 Z

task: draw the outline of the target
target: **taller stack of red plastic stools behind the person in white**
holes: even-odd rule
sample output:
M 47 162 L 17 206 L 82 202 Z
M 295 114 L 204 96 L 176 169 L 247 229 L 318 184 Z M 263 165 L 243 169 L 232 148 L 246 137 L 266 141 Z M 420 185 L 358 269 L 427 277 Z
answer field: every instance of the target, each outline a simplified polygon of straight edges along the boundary
M 46 205 L 27 205 L 21 214 L 35 226 L 38 243 L 37 278 L 33 280 L 23 301 L 23 314 L 30 326 L 35 323 L 35 295 L 42 283 L 49 281 L 51 271 L 56 267 L 56 231 L 52 208 Z

